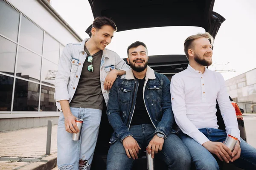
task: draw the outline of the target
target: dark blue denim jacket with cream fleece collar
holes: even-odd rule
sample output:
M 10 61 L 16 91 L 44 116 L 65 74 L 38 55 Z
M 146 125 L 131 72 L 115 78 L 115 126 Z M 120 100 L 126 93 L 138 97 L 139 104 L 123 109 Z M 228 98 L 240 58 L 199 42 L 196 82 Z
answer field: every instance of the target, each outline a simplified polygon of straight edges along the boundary
M 108 121 L 114 130 L 110 139 L 111 144 L 117 140 L 122 142 L 125 137 L 132 136 L 129 128 L 134 114 L 138 87 L 139 84 L 130 69 L 125 75 L 117 78 L 111 88 L 107 110 Z M 170 81 L 165 75 L 154 72 L 149 66 L 145 76 L 143 99 L 151 122 L 156 128 L 155 133 L 160 132 L 168 136 L 175 121 Z

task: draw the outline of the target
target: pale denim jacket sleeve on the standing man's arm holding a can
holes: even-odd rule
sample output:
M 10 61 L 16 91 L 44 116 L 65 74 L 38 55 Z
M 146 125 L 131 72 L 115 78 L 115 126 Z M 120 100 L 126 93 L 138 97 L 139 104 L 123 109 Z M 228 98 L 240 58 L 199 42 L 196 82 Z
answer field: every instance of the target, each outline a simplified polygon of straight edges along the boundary
M 67 85 L 70 78 L 72 54 L 69 45 L 66 45 L 62 51 L 61 59 L 58 65 L 58 73 L 55 78 L 55 94 L 56 101 L 69 100 Z

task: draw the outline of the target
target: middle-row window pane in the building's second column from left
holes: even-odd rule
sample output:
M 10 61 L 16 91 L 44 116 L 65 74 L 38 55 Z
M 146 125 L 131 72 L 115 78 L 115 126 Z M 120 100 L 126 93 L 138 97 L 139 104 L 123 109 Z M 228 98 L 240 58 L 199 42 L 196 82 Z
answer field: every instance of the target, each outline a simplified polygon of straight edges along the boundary
M 41 60 L 42 57 L 38 56 L 37 54 L 34 54 L 25 48 L 19 47 L 16 76 L 39 82 Z

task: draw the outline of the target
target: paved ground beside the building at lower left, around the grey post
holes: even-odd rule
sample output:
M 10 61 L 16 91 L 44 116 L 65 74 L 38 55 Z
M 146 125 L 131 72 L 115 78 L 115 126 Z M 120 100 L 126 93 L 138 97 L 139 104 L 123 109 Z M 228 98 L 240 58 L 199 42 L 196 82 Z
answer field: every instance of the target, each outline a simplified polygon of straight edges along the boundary
M 46 154 L 47 126 L 0 133 L 0 170 L 29 170 L 32 162 Z M 57 125 L 52 126 L 50 155 L 57 155 Z M 27 167 L 27 168 L 26 168 Z

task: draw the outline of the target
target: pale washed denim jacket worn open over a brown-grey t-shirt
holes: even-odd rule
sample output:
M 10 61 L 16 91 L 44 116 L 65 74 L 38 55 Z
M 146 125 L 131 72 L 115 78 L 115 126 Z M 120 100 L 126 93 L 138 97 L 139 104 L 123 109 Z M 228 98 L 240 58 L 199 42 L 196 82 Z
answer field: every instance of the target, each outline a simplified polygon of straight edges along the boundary
M 86 61 L 87 54 L 84 52 L 84 44 L 88 39 L 79 43 L 67 44 L 61 55 L 61 59 L 58 65 L 58 74 L 55 78 L 55 94 L 54 99 L 56 106 L 61 110 L 61 105 L 58 101 L 68 100 L 71 102 L 76 87 L 79 82 L 81 71 Z M 110 65 L 114 65 L 115 69 L 128 71 L 130 66 L 119 57 L 114 51 L 109 49 L 103 50 L 102 59 L 100 63 L 100 83 L 102 94 L 104 96 L 106 105 L 108 104 L 109 91 L 104 90 L 104 81 L 109 72 L 108 69 L 104 69 Z

